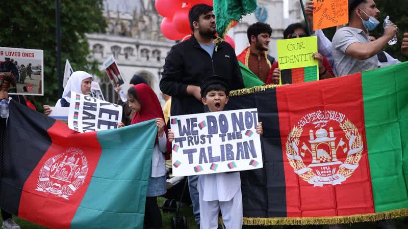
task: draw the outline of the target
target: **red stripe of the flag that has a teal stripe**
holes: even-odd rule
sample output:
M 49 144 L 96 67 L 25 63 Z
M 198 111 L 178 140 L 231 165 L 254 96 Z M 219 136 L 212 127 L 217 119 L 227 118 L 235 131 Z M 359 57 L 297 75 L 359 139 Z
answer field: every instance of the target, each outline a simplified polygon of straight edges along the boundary
M 96 137 L 96 132 L 78 133 L 68 129 L 65 124 L 56 122 L 47 130 L 47 133 L 52 139 L 52 144 L 40 162 L 37 164 L 27 181 L 24 183 L 18 209 L 18 216 L 49 228 L 69 228 L 70 222 L 74 217 L 78 206 L 81 204 L 82 198 L 84 197 L 89 182 L 91 181 L 101 154 L 101 148 Z M 83 156 L 86 157 L 86 162 L 82 160 L 82 156 L 75 156 L 76 159 L 74 162 L 72 162 L 73 159 L 69 158 L 72 155 L 71 154 L 65 160 L 65 162 L 72 162 L 71 164 L 77 163 L 78 160 L 77 165 L 80 166 L 75 167 L 74 165 L 71 165 L 74 167 L 73 170 L 75 171 L 77 171 L 79 167 L 81 167 L 83 170 L 85 169 L 83 162 L 84 164 L 87 164 L 88 170 L 86 176 L 83 179 L 83 184 L 79 187 L 78 182 L 81 182 L 81 175 L 76 175 L 75 171 L 71 179 L 65 179 L 69 180 L 69 182 L 62 181 L 64 180 L 62 179 L 63 175 L 65 174 L 64 171 L 66 171 L 67 174 L 70 173 L 70 167 L 67 164 L 63 164 L 60 169 L 61 180 L 50 177 L 54 175 L 57 166 L 54 167 L 53 171 L 51 171 L 53 167 L 50 168 L 49 176 L 44 176 L 44 171 L 46 171 L 43 169 L 45 163 L 47 161 L 48 163 L 52 162 L 52 160 L 49 159 L 55 158 L 57 155 L 64 154 L 69 148 L 81 150 L 83 152 Z M 64 160 L 64 158 L 65 155 L 58 158 L 57 161 L 61 162 Z M 52 164 L 55 165 L 56 163 L 52 162 Z M 59 165 L 61 164 L 62 163 L 59 163 Z M 65 168 L 65 170 L 63 170 L 63 168 Z M 41 169 L 42 175 L 40 175 Z M 65 197 L 68 199 L 61 197 L 61 195 L 58 196 L 58 194 L 53 194 L 49 191 L 47 193 L 44 191 L 38 191 L 40 177 L 48 177 L 53 181 L 53 186 L 55 187 L 69 185 L 71 182 L 71 187 L 78 187 L 78 189 L 71 195 L 65 195 Z M 58 176 L 55 175 L 54 177 Z M 42 187 L 47 187 L 47 184 L 43 184 Z M 65 186 L 64 193 L 67 193 L 66 188 L 70 187 Z

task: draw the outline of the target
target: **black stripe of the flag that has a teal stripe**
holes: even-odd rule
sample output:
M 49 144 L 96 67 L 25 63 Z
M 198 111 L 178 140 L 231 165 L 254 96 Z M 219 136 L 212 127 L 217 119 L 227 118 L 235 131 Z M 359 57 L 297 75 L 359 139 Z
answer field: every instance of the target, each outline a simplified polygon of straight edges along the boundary
M 1 136 L 6 139 L 0 180 L 0 206 L 5 211 L 18 215 L 24 183 L 51 145 L 47 129 L 54 123 L 54 119 L 10 101 L 6 136 Z

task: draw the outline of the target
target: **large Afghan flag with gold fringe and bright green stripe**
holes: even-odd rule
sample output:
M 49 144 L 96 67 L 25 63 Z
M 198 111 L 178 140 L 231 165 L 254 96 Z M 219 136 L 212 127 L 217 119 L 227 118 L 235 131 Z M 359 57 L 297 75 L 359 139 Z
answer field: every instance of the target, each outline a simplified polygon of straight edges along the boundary
M 258 108 L 264 127 L 263 168 L 241 172 L 244 223 L 408 215 L 407 77 L 408 63 L 402 63 L 232 92 L 227 108 Z

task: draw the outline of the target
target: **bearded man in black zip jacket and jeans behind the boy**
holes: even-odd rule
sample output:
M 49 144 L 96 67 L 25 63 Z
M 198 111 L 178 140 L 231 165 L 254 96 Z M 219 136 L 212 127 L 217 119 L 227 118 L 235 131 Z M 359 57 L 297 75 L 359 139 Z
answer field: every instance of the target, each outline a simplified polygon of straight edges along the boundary
M 244 88 L 237 56 L 231 45 L 222 42 L 215 50 L 213 8 L 205 4 L 193 6 L 189 12 L 189 21 L 194 34 L 189 40 L 171 48 L 160 81 L 160 90 L 171 96 L 171 116 L 205 111 L 199 86 L 209 76 L 226 78 L 230 90 Z M 189 176 L 188 181 L 195 221 L 199 224 L 198 176 Z

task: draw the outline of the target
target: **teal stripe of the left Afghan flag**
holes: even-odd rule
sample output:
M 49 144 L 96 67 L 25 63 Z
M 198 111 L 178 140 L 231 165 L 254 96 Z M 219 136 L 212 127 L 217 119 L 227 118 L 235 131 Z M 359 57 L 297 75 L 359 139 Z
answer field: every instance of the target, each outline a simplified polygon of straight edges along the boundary
M 156 134 L 156 120 L 97 132 L 102 152 L 71 228 L 143 228 Z

